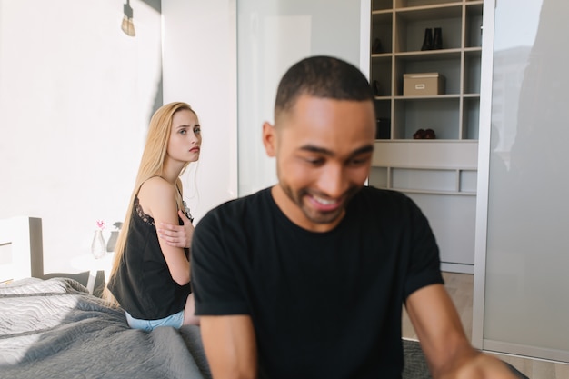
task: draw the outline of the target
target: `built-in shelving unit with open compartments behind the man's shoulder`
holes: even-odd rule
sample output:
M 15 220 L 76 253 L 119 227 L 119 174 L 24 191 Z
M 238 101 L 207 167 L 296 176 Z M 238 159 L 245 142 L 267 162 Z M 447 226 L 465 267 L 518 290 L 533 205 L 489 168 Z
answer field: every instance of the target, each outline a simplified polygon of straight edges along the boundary
M 412 197 L 434 229 L 443 269 L 462 273 L 474 273 L 483 3 L 371 3 L 370 82 L 383 132 L 369 183 Z M 425 29 L 435 27 L 442 48 L 422 51 Z M 444 95 L 403 95 L 404 74 L 431 72 L 444 76 Z M 429 128 L 436 139 L 413 139 Z

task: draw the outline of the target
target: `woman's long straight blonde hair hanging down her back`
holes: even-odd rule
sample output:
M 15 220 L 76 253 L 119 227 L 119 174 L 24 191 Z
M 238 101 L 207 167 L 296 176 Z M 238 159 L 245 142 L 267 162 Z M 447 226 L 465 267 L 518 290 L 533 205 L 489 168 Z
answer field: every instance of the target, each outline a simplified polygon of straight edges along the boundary
M 133 193 L 130 196 L 130 203 L 128 204 L 128 209 L 126 210 L 125 215 L 125 223 L 123 223 L 123 227 L 121 228 L 118 239 L 116 240 L 113 268 L 111 269 L 109 278 L 107 278 L 107 282 L 108 279 L 115 275 L 123 259 L 123 254 L 125 253 L 126 236 L 128 235 L 133 207 L 135 205 L 135 198 L 138 195 L 140 186 L 143 185 L 143 183 L 145 183 L 145 181 L 150 177 L 162 174 L 165 164 L 166 148 L 168 146 L 170 133 L 172 131 L 172 118 L 176 112 L 184 109 L 195 114 L 195 111 L 190 105 L 182 102 L 174 102 L 162 105 L 160 108 L 158 108 L 158 110 L 156 110 L 155 114 L 150 119 L 145 150 L 140 160 L 138 174 L 136 175 L 135 188 L 133 189 Z M 184 168 L 180 172 L 180 175 L 184 174 L 185 167 L 187 167 L 188 164 L 189 163 L 185 164 Z M 184 209 L 182 196 L 180 196 L 179 193 L 176 194 L 178 194 L 176 196 L 178 209 Z M 118 305 L 115 296 L 111 294 L 106 286 L 105 290 L 103 291 L 103 298 L 110 304 Z

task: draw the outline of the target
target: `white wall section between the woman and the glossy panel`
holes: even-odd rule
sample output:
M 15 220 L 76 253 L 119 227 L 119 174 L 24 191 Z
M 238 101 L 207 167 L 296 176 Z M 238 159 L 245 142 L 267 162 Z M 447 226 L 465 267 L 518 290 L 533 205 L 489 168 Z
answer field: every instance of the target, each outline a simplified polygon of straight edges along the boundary
M 189 103 L 202 125 L 197 170 L 183 178 L 199 222 L 237 196 L 235 0 L 167 0 L 162 13 L 164 101 Z

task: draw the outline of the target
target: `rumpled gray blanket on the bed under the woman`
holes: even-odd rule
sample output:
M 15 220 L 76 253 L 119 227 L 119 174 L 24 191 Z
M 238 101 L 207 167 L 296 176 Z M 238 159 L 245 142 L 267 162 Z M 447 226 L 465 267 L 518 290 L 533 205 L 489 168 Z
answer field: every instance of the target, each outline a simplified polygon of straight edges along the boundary
M 6 378 L 209 378 L 199 331 L 133 330 L 74 280 L 0 285 L 0 374 Z

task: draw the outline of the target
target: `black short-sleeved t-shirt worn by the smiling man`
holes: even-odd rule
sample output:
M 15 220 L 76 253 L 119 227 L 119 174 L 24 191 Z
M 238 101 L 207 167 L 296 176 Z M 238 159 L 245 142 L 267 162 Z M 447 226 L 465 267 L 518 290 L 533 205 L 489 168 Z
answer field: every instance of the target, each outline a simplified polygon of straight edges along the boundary
M 334 230 L 292 223 L 270 188 L 195 229 L 196 314 L 249 314 L 268 378 L 398 378 L 402 304 L 442 284 L 438 248 L 404 194 L 364 187 Z

